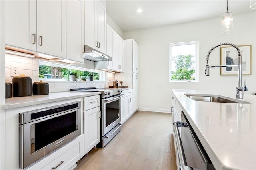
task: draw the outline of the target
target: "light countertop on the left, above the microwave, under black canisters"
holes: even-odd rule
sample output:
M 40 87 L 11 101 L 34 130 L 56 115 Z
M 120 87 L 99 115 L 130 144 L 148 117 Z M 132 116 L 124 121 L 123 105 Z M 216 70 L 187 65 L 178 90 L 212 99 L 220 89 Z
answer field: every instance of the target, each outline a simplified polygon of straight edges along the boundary
M 34 95 L 24 97 L 11 97 L 5 99 L 4 109 L 14 109 L 18 107 L 38 105 L 42 103 L 50 103 L 54 101 L 62 101 L 79 97 L 88 97 L 100 95 L 101 92 L 85 92 L 85 91 L 65 91 L 49 93 L 49 95 Z

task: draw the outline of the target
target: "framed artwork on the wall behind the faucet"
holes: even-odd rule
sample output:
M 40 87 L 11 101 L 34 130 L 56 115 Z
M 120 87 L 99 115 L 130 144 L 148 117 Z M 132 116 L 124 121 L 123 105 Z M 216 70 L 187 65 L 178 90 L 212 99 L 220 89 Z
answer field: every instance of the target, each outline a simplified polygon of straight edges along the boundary
M 252 75 L 252 45 L 238 45 L 242 55 L 242 75 Z M 238 53 L 234 47 L 220 48 L 220 65 L 236 65 Z M 220 75 L 237 75 L 237 67 L 221 67 Z

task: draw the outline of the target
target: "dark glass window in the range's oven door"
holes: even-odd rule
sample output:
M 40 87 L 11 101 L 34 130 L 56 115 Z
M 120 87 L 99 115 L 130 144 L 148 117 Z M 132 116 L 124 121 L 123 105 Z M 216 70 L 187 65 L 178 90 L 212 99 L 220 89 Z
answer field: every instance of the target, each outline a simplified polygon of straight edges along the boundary
M 106 104 L 106 127 L 119 118 L 119 100 Z

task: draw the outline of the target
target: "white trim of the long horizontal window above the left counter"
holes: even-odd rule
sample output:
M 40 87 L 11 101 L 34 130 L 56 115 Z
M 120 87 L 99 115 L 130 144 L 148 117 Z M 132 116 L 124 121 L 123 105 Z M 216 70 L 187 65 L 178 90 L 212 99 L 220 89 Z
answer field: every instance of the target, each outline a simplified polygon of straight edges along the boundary
M 93 70 L 93 69 L 86 69 L 82 67 L 76 67 L 72 65 L 65 65 L 65 64 L 59 64 L 59 63 L 52 63 L 48 61 L 42 61 L 39 60 L 39 65 L 48 65 L 52 67 L 60 67 L 60 68 L 65 68 L 65 69 L 74 69 L 74 70 L 80 70 L 80 71 L 88 71 L 88 72 L 93 72 L 93 73 L 99 73 L 100 74 L 100 80 L 93 80 L 93 81 L 105 81 L 106 80 L 106 74 L 104 71 L 98 71 L 98 70 Z M 62 80 L 62 79 L 43 79 L 39 78 L 40 80 L 47 80 L 47 81 L 67 81 L 67 80 Z

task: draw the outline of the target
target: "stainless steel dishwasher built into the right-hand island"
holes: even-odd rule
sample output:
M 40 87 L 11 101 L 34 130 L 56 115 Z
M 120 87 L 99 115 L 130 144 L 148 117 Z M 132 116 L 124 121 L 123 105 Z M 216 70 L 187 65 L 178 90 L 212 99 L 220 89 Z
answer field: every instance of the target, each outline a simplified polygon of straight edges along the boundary
M 174 121 L 174 146 L 178 170 L 215 170 L 183 111 L 182 122 Z

